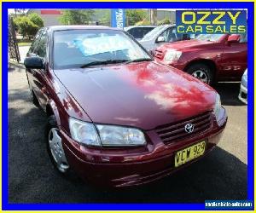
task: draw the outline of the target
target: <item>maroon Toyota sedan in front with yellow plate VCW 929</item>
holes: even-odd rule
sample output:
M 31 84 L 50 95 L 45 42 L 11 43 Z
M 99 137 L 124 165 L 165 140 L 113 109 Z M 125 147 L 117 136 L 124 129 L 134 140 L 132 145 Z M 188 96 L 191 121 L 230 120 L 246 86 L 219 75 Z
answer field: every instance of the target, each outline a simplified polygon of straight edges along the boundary
M 41 29 L 24 64 L 63 174 L 114 187 L 154 181 L 211 151 L 227 122 L 215 90 L 115 28 Z

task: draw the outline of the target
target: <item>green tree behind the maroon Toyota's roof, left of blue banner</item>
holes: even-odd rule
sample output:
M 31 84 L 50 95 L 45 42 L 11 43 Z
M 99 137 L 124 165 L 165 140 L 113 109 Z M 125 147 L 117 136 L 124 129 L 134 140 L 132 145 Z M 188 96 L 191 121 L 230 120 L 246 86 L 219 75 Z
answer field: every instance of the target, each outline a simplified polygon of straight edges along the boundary
M 93 9 L 66 9 L 60 20 L 63 25 L 88 25 L 94 14 Z

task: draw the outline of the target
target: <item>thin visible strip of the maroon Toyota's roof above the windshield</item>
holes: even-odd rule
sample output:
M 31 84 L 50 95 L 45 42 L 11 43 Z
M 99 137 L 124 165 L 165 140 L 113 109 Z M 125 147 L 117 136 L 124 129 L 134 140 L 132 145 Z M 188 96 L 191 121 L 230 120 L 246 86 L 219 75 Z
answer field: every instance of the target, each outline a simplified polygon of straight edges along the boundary
M 109 26 L 82 26 L 82 25 L 73 25 L 73 26 L 49 26 L 47 27 L 50 31 L 67 31 L 67 30 L 119 30 L 120 28 L 109 27 Z

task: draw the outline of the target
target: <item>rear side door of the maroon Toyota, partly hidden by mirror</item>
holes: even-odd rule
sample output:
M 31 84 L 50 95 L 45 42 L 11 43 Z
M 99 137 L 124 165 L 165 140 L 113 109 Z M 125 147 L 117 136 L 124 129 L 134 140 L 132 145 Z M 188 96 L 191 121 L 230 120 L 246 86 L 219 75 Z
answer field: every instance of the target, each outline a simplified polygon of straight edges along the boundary
M 32 57 L 36 56 L 36 51 L 38 49 L 38 43 L 40 41 L 40 37 L 42 35 L 43 30 L 39 30 L 36 36 L 34 37 L 34 40 L 32 42 L 32 45 L 30 49 L 28 50 L 26 57 Z M 26 78 L 28 80 L 29 88 L 35 93 L 36 85 L 34 83 L 34 75 L 35 69 L 26 69 Z

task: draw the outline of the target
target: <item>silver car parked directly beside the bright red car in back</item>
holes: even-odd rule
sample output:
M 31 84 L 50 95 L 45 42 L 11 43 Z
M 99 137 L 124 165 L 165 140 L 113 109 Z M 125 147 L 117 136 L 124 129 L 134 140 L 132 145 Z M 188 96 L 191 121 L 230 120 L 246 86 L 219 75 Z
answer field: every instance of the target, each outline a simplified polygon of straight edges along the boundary
M 177 34 L 176 25 L 164 25 L 157 26 L 154 30 L 148 32 L 139 43 L 148 51 L 153 51 L 163 43 L 188 40 L 190 38 L 195 38 L 195 35 Z

